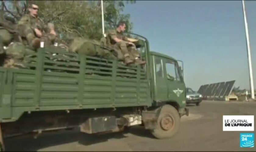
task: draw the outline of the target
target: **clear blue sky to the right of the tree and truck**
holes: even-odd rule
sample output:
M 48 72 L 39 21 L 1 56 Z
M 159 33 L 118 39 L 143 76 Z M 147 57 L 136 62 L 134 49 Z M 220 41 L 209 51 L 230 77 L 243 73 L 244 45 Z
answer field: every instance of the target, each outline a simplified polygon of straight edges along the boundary
M 256 88 L 256 1 L 245 8 Z M 250 89 L 242 1 L 136 1 L 123 13 L 151 51 L 183 61 L 187 87 L 236 80 Z

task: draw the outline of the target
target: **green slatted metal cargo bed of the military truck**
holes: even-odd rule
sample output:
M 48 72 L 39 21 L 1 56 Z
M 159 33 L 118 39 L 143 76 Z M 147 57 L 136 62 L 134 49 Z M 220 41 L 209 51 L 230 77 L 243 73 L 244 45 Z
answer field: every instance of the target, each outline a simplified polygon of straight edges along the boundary
M 151 105 L 142 66 L 47 48 L 26 60 L 27 69 L 0 67 L 0 122 L 30 111 Z

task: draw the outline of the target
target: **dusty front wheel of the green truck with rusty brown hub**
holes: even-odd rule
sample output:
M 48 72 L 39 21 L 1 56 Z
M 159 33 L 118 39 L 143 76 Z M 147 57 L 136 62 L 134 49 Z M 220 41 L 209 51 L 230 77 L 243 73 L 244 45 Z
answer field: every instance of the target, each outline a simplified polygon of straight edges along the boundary
M 168 125 L 165 124 L 166 121 Z M 151 130 L 151 133 L 158 139 L 166 139 L 174 136 L 179 128 L 180 114 L 173 106 L 164 105 L 157 120 L 157 127 Z

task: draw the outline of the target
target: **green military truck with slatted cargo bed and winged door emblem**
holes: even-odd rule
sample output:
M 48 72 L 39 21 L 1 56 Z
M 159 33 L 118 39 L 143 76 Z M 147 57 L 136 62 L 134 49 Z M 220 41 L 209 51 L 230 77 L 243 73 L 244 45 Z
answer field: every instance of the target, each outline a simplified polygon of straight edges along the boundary
M 26 69 L 0 67 L 1 150 L 7 137 L 77 126 L 92 134 L 142 125 L 158 139 L 172 137 L 188 116 L 183 65 L 130 35 L 144 66 L 51 47 L 26 57 Z

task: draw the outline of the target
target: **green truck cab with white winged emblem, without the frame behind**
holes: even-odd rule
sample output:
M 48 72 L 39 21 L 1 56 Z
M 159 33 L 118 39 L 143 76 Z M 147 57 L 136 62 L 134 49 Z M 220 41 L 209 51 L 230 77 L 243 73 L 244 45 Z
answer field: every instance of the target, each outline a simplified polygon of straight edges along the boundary
M 154 104 L 168 103 L 176 109 L 183 110 L 186 106 L 186 86 L 181 66 L 176 59 L 157 52 L 151 51 L 150 58 Z

